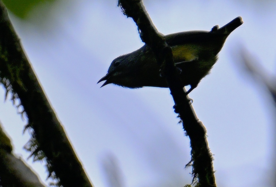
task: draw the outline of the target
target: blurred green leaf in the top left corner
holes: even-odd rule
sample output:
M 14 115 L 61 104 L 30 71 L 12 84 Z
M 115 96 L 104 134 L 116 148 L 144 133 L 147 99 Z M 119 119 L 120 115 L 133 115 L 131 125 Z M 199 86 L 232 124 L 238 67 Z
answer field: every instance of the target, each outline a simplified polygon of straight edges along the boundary
M 9 11 L 23 19 L 27 17 L 28 13 L 35 6 L 54 1 L 55 0 L 2 0 Z

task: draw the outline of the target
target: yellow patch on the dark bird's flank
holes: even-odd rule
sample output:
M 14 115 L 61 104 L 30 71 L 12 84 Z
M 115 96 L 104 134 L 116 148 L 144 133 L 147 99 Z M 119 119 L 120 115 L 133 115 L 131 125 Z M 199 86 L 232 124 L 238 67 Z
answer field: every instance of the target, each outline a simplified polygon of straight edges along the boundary
M 175 61 L 192 61 L 198 58 L 197 45 L 177 45 L 172 46 L 172 55 Z

